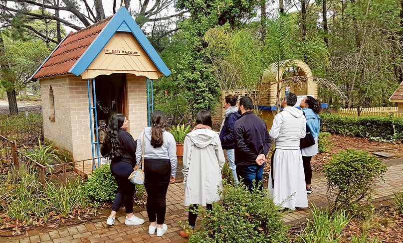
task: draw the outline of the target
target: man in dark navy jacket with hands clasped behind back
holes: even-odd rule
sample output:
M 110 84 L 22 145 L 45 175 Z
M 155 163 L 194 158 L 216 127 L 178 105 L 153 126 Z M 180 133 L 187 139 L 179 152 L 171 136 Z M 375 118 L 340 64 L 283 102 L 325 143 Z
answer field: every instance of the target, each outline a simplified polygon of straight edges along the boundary
M 252 109 L 250 97 L 245 96 L 239 100 L 238 113 L 241 117 L 235 122 L 233 130 L 236 174 L 238 179 L 243 179 L 249 190 L 263 181 L 263 167 L 271 145 L 266 123 L 253 114 Z M 259 189 L 263 189 L 263 184 Z

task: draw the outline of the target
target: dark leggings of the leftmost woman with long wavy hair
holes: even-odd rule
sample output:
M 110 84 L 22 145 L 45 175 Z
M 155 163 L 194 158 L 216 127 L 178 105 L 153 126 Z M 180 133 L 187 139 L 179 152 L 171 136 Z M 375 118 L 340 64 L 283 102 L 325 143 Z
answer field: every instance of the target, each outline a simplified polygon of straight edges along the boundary
M 123 161 L 112 162 L 111 172 L 118 184 L 118 193 L 113 200 L 112 210 L 118 212 L 123 202 L 126 214 L 133 213 L 133 196 L 136 188 L 128 180 L 129 175 L 133 172 L 133 166 Z

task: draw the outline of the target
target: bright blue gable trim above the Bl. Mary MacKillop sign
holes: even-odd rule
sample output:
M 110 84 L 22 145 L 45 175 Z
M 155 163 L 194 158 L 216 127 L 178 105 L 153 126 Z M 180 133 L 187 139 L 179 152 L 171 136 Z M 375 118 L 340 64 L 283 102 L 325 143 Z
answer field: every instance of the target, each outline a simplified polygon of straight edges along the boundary
M 168 69 L 167 65 L 165 65 L 139 25 L 137 25 L 132 15 L 130 15 L 129 11 L 124 6 L 119 8 L 117 13 L 109 20 L 104 29 L 98 34 L 69 72 L 76 76 L 82 74 L 117 31 L 132 32 L 158 70 L 167 77 L 171 75 L 171 71 Z

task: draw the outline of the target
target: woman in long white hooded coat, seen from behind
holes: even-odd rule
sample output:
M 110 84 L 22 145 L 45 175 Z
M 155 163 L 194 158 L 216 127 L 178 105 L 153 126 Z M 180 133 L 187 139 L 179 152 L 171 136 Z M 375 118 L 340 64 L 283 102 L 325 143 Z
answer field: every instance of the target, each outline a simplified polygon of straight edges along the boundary
M 218 190 L 222 189 L 221 169 L 225 158 L 217 132 L 211 129 L 211 116 L 202 110 L 196 115 L 195 128 L 186 135 L 184 142 L 185 206 L 190 206 L 189 226 L 196 225 L 197 214 L 192 211 L 199 205 L 212 209 L 212 203 L 220 199 Z M 180 235 L 189 238 L 181 231 Z

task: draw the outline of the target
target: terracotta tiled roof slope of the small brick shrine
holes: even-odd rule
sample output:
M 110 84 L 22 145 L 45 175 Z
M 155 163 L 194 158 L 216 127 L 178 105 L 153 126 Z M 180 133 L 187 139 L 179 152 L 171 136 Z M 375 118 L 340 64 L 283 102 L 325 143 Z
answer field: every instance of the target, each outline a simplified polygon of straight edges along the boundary
M 112 16 L 77 32 L 70 32 L 32 78 L 39 79 L 69 74 L 71 67 L 87 50 L 88 46 L 95 40 Z

